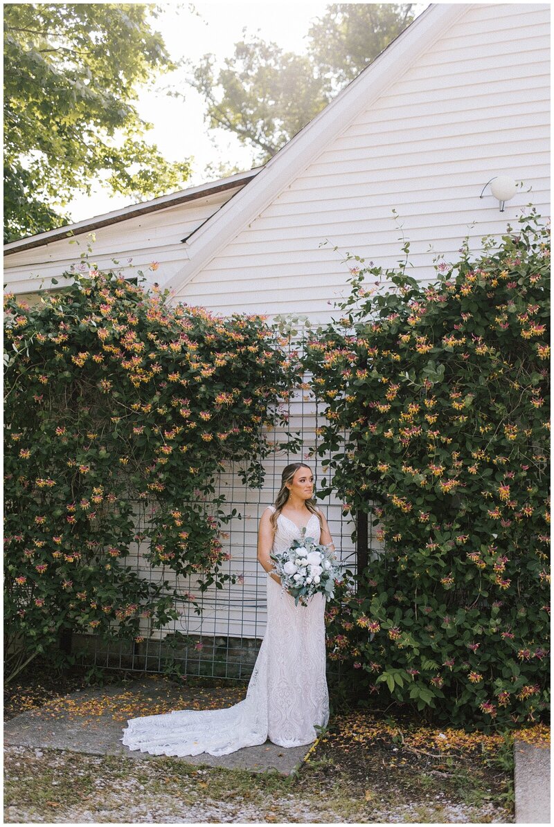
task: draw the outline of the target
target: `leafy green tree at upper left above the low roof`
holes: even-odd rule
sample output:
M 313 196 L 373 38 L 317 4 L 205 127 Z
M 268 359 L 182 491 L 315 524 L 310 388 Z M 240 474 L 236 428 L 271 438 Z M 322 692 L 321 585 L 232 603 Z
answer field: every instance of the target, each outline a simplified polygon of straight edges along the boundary
M 5 241 L 59 227 L 75 192 L 106 177 L 140 200 L 176 189 L 170 164 L 142 137 L 137 88 L 175 65 L 144 3 L 12 3 L 4 9 Z M 119 142 L 122 146 L 118 146 Z

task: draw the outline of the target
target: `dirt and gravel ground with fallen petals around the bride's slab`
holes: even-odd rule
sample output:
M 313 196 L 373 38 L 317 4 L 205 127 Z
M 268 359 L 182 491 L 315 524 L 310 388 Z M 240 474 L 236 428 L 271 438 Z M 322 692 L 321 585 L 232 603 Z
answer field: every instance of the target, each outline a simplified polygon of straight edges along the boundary
M 106 673 L 106 681 L 121 681 Z M 209 692 L 197 681 L 200 696 Z M 229 686 L 229 704 L 243 687 Z M 212 684 L 214 681 L 212 681 Z M 6 715 L 84 686 L 83 671 L 31 671 L 7 687 Z M 442 736 L 442 738 L 441 738 Z M 442 743 L 452 749 L 438 748 Z M 491 757 L 492 756 L 492 757 Z M 7 823 L 510 823 L 513 774 L 487 743 L 360 710 L 332 715 L 289 777 L 178 758 L 5 749 Z

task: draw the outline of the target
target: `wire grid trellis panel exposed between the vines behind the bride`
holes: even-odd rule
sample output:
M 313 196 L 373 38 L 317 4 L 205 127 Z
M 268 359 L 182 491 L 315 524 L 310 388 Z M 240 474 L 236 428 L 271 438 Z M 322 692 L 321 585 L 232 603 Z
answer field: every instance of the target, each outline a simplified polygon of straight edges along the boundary
M 301 351 L 305 337 L 291 338 L 289 351 Z M 303 384 L 311 377 L 305 376 Z M 169 567 L 152 568 L 144 557 L 147 543 L 137 543 L 127 563 L 137 573 L 152 581 L 168 581 L 176 590 L 175 605 L 179 619 L 162 629 L 151 629 L 149 619 L 141 622 L 142 643 L 111 641 L 105 643 L 99 636 L 77 636 L 76 649 L 80 662 L 107 668 L 129 668 L 144 672 L 163 672 L 178 669 L 182 675 L 229 677 L 248 680 L 266 629 L 267 575 L 257 559 L 258 523 L 267 505 L 272 504 L 281 486 L 282 471 L 290 462 L 305 461 L 311 466 L 318 481 L 325 476 L 324 467 L 329 457 L 317 453 L 316 429 L 322 420 L 324 406 L 316 404 L 311 391 L 295 390 L 291 399 L 283 403 L 287 427 L 279 426 L 268 435 L 275 450 L 263 461 L 265 479 L 261 489 L 248 488 L 238 475 L 239 463 L 230 462 L 217 480 L 217 495 L 223 494 L 221 508 L 230 515 L 237 514 L 222 528 L 221 542 L 229 552 L 229 561 L 221 570 L 237 576 L 223 589 L 210 586 L 200 592 L 198 581 L 191 576 L 177 576 Z M 294 454 L 279 448 L 287 442 L 287 429 L 299 433 L 300 450 Z M 207 504 L 209 507 L 209 504 Z M 356 548 L 352 541 L 354 519 L 343 516 L 340 500 L 334 495 L 318 501 L 329 523 L 330 533 L 339 555 L 340 566 L 355 574 Z M 150 504 L 135 504 L 137 533 L 147 526 Z M 369 547 L 373 537 L 369 529 Z M 193 595 L 200 604 L 200 614 L 190 600 Z

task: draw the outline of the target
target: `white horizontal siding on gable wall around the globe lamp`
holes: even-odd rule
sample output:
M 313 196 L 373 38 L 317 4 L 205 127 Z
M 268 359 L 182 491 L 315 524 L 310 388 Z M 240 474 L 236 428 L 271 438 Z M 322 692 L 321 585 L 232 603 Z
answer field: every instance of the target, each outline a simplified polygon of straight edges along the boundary
M 349 292 L 347 251 L 384 267 L 402 258 L 393 208 L 420 280 L 436 254 L 452 260 L 465 235 L 477 248 L 531 201 L 546 218 L 548 49 L 547 4 L 470 6 L 378 100 L 369 87 L 354 122 L 176 299 L 323 321 Z M 489 188 L 479 199 L 498 174 L 523 181 L 504 213 Z

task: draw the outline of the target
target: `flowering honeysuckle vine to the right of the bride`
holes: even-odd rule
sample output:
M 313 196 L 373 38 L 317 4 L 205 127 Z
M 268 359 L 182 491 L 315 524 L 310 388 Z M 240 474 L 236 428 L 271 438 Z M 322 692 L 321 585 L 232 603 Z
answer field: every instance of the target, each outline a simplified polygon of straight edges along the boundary
M 330 657 L 479 728 L 548 701 L 550 244 L 535 211 L 433 283 L 351 269 L 343 317 L 307 347 L 321 455 L 380 549 L 327 613 Z M 377 282 L 377 284 L 375 284 Z M 388 283 L 388 284 L 387 284 Z M 388 286 L 388 290 L 383 287 Z M 345 433 L 345 436 L 344 436 Z M 387 691 L 388 690 L 388 691 Z

